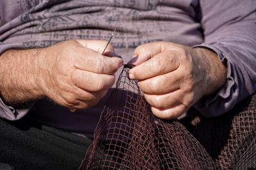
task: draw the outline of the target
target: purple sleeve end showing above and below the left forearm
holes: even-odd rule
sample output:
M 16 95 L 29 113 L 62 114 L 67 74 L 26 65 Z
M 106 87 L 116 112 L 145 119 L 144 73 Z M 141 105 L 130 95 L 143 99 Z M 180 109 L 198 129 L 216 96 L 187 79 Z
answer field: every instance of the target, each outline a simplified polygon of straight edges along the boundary
M 3 53 L 5 50 L 11 49 L 11 48 L 21 48 L 20 45 L 16 44 L 6 44 L 0 42 L 0 54 Z M 11 66 L 10 66 L 11 67 Z M 7 81 L 7 80 L 3 80 Z M 26 113 L 32 108 L 33 102 L 26 103 L 23 105 L 23 107 L 15 108 L 13 106 L 8 106 L 8 104 L 5 104 L 3 99 L 0 97 L 0 117 L 6 118 L 8 120 L 19 120 L 20 118 L 24 117 Z

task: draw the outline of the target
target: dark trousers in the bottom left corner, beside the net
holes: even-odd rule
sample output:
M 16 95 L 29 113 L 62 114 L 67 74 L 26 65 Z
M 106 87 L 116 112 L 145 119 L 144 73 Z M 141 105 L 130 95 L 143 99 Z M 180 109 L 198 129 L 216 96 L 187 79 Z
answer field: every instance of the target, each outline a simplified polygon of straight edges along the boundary
M 78 169 L 91 143 L 26 118 L 0 118 L 0 169 Z

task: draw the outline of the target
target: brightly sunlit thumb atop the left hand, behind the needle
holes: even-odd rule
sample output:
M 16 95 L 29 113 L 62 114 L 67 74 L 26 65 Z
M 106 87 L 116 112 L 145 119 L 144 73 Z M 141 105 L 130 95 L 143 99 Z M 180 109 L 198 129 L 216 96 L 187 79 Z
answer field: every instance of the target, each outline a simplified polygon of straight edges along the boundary
M 86 40 L 86 39 L 76 39 L 76 41 L 86 47 L 86 48 L 90 48 L 92 50 L 95 50 L 96 52 L 102 53 L 105 46 L 108 44 L 108 41 L 103 41 L 103 40 Z M 114 51 L 113 45 L 111 45 L 111 43 L 109 43 L 109 45 L 107 46 L 106 52 L 108 51 Z

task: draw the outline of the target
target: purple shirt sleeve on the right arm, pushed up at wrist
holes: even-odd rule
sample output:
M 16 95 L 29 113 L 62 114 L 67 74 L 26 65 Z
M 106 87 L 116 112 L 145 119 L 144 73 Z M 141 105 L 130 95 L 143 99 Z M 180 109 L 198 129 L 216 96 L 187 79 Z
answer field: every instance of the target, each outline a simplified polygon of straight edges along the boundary
M 204 43 L 227 65 L 225 85 L 195 104 L 205 117 L 231 110 L 256 91 L 256 1 L 200 1 Z

